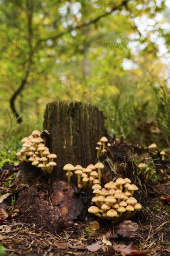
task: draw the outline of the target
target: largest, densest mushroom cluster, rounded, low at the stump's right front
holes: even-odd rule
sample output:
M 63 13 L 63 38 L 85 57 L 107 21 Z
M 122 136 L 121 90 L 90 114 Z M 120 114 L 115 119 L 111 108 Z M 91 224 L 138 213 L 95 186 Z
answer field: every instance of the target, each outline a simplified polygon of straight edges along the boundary
M 88 212 L 102 218 L 111 220 L 112 223 L 119 223 L 135 215 L 141 205 L 133 197 L 137 186 L 130 184 L 128 178 L 118 178 L 116 182 L 109 182 L 102 188 L 99 184 L 92 186 L 93 194 L 92 202 L 96 206 L 91 206 Z

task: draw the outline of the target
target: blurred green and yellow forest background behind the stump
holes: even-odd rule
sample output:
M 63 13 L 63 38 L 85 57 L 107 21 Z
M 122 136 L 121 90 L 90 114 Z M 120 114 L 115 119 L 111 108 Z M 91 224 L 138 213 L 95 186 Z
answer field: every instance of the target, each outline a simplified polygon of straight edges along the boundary
M 1 149 L 42 129 L 54 100 L 97 105 L 109 134 L 169 146 L 170 0 L 1 0 L 0 24 Z

